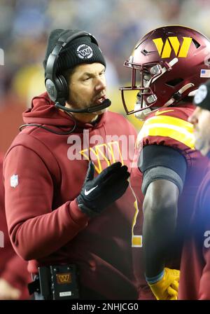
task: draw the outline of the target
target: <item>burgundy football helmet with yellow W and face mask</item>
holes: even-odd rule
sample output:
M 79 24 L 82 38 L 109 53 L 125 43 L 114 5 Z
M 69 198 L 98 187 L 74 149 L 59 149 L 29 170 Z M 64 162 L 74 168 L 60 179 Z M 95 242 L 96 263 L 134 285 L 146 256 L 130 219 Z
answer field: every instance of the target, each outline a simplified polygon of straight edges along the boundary
M 193 95 L 210 78 L 210 41 L 189 27 L 160 27 L 137 42 L 124 65 L 132 69 L 132 85 L 120 88 L 123 106 L 127 114 L 144 120 L 151 111 Z M 130 90 L 137 90 L 131 110 L 125 101 Z

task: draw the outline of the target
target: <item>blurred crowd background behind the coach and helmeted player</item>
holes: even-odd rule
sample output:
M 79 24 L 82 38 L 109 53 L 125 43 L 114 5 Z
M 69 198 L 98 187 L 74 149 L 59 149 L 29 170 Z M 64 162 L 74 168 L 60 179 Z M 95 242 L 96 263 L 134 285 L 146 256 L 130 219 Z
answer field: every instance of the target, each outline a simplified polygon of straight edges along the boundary
M 210 37 L 209 16 L 209 0 L 0 0 L 0 151 L 18 133 L 31 98 L 45 90 L 42 62 L 52 29 L 96 36 L 108 64 L 111 110 L 124 114 L 118 87 L 130 85 L 131 72 L 123 63 L 141 36 L 179 24 Z

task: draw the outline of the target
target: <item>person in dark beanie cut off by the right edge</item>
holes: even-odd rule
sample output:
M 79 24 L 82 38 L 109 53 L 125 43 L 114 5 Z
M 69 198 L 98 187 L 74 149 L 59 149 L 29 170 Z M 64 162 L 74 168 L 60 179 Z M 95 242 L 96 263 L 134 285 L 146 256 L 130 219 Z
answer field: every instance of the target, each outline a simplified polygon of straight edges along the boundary
M 196 109 L 189 117 L 195 133 L 195 147 L 210 158 L 210 81 L 197 90 Z M 179 299 L 210 299 L 210 168 L 197 191 L 188 234 L 181 254 Z

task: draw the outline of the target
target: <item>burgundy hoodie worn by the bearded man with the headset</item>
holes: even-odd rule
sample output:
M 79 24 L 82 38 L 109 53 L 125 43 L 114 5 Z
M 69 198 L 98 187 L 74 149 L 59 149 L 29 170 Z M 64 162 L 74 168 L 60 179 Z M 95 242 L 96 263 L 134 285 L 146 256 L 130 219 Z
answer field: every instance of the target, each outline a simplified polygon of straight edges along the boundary
M 23 118 L 25 123 L 42 124 L 56 132 L 66 132 L 74 125 L 71 116 L 55 108 L 47 93 L 34 98 Z M 86 135 L 90 132 L 93 144 L 90 150 L 83 145 L 78 149 L 78 156 L 83 158 L 70 160 L 73 139 L 77 135 L 83 144 L 84 129 Z M 103 143 L 94 143 L 93 135 L 100 135 Z M 34 126 L 24 128 L 4 162 L 8 230 L 16 252 L 29 260 L 30 273 L 37 273 L 38 266 L 76 263 L 83 298 L 137 299 L 132 270 L 135 208 L 131 189 L 93 219 L 80 212 L 76 201 L 88 158 L 94 162 L 96 175 L 109 162 L 122 161 L 123 141 L 108 140 L 106 135 L 130 135 L 127 149 L 134 147 L 133 126 L 110 111 L 94 125 L 78 122 L 71 135 Z M 103 154 L 104 145 L 109 148 L 109 157 Z M 131 161 L 132 153 L 123 160 L 129 170 Z

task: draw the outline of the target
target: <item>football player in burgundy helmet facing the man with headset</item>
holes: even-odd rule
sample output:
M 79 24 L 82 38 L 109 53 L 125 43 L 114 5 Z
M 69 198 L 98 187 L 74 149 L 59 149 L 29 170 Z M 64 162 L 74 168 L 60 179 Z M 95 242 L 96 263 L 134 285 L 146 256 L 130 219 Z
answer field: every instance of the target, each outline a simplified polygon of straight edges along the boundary
M 181 242 L 207 165 L 195 150 L 188 117 L 195 90 L 210 77 L 209 58 L 206 36 L 175 25 L 143 36 L 125 62 L 132 85 L 120 88 L 123 105 L 144 121 L 130 179 L 138 200 L 132 229 L 136 275 L 144 285 L 144 247 L 146 280 L 156 299 L 177 299 L 179 271 L 172 268 L 179 268 Z M 126 93 L 137 93 L 135 107 L 127 104 Z

